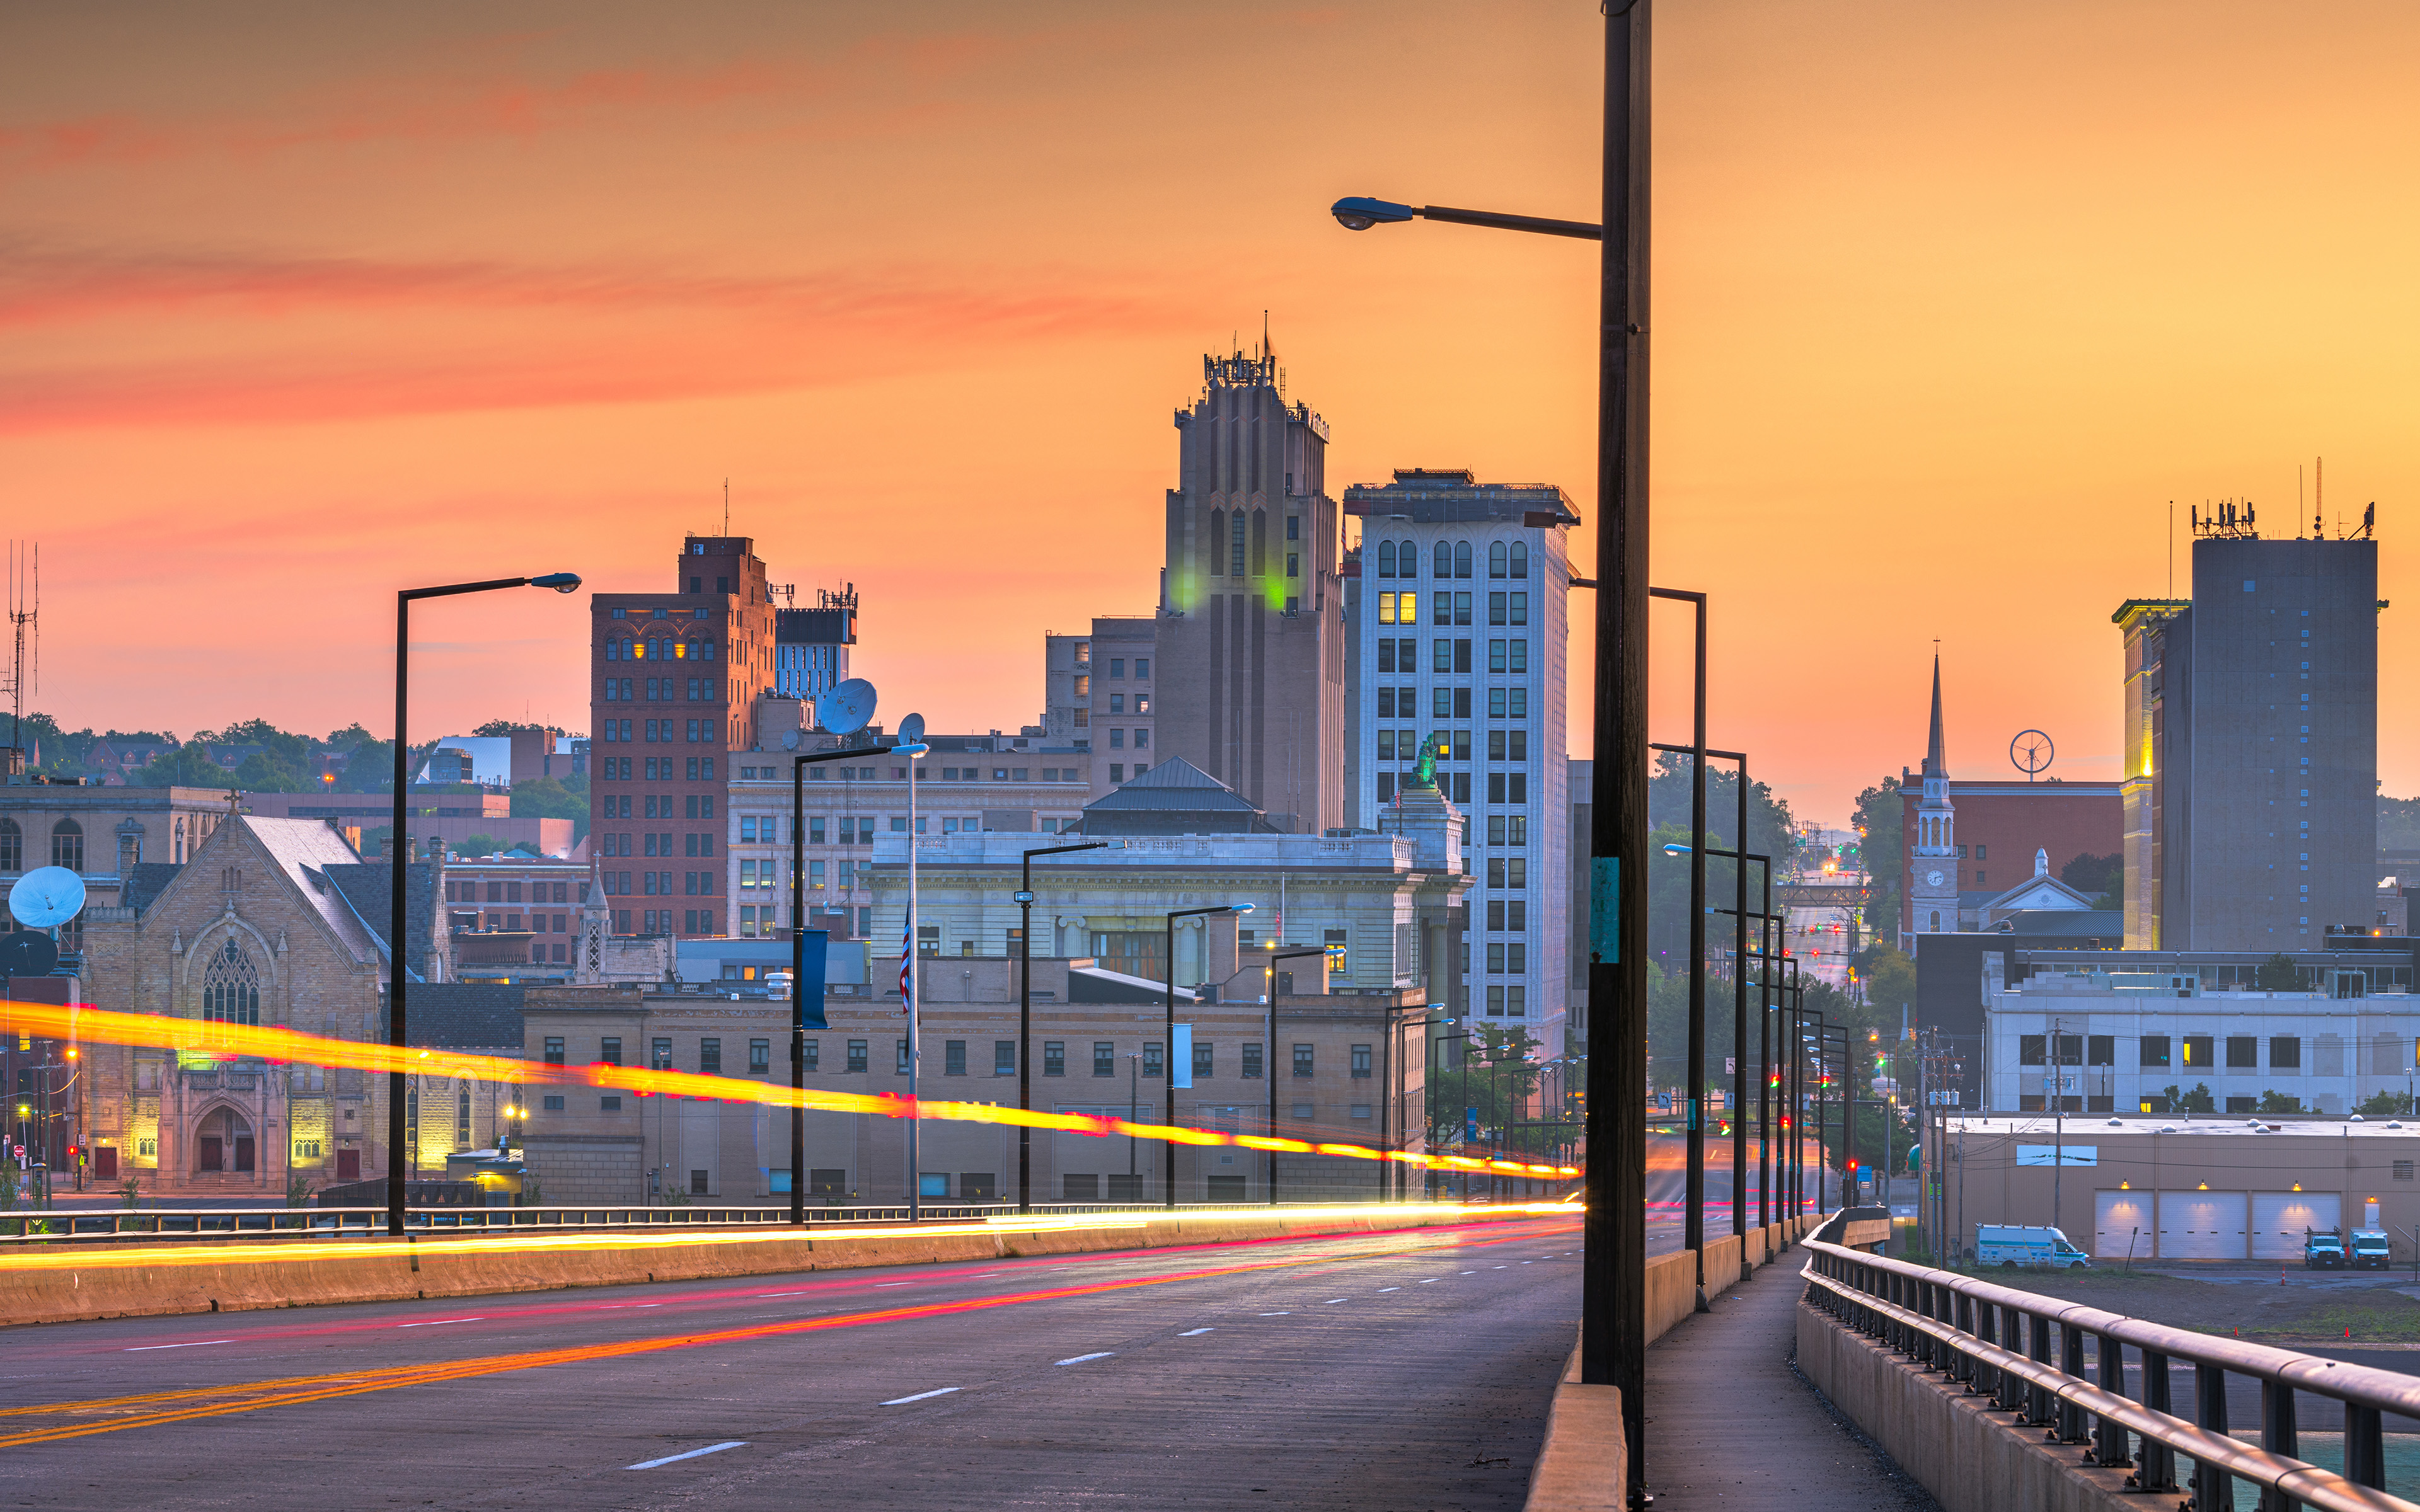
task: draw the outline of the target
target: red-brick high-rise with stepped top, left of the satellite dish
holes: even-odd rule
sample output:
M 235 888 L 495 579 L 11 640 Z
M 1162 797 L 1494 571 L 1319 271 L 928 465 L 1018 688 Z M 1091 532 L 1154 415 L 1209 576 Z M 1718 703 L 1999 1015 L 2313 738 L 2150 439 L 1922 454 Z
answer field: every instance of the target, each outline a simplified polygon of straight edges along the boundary
M 598 593 L 588 634 L 590 854 L 615 934 L 728 934 L 731 752 L 757 743 L 774 605 L 755 542 L 680 542 L 670 593 Z

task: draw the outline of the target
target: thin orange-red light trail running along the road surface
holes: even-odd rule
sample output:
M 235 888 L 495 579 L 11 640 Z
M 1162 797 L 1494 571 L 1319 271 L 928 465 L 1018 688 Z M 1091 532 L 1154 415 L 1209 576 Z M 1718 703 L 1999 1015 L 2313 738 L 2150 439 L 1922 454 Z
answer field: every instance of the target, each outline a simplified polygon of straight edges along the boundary
M 1416 1253 L 1423 1248 L 1437 1248 L 1440 1243 L 1527 1243 L 1537 1234 L 1500 1234 L 1500 1236 L 1428 1236 L 1428 1243 L 1404 1243 L 1387 1251 L 1372 1251 L 1362 1258 L 1387 1258 L 1401 1253 Z M 264 1408 L 302 1406 L 315 1401 L 332 1401 L 339 1396 L 365 1396 L 370 1391 L 397 1391 L 402 1386 L 431 1386 L 440 1381 L 467 1381 L 477 1377 L 508 1374 L 520 1369 L 544 1369 L 552 1364 L 588 1364 L 595 1360 L 622 1360 L 629 1355 L 651 1355 L 658 1350 L 695 1350 L 709 1345 L 733 1345 L 753 1343 L 767 1338 L 789 1338 L 799 1333 L 825 1333 L 832 1328 L 869 1328 L 876 1323 L 905 1323 L 917 1318 L 946 1318 L 953 1314 L 990 1311 L 1002 1306 L 1021 1306 L 1031 1302 L 1067 1302 L 1077 1297 L 1108 1297 L 1116 1292 L 1137 1292 L 1142 1287 L 1166 1287 L 1188 1280 L 1217 1280 L 1229 1275 L 1249 1275 L 1256 1270 L 1285 1270 L 1295 1265 L 1329 1263 L 1329 1256 L 1280 1256 L 1270 1260 L 1241 1260 L 1234 1265 L 1203 1265 L 1193 1270 L 1174 1270 L 1166 1275 L 1130 1275 L 1101 1282 L 1082 1282 L 1070 1287 L 1050 1287 L 1038 1292 L 1012 1292 L 1007 1297 L 966 1297 L 958 1302 L 924 1302 L 917 1306 L 891 1306 L 859 1314 L 835 1314 L 825 1318 L 789 1318 L 782 1323 L 755 1323 L 748 1328 L 714 1328 L 707 1333 L 675 1333 L 663 1338 L 629 1338 L 595 1345 L 571 1345 L 559 1350 L 520 1350 L 513 1355 L 479 1355 L 469 1360 L 438 1360 L 428 1364 L 394 1364 L 382 1369 L 358 1369 L 322 1377 L 281 1377 L 269 1381 L 247 1384 L 220 1384 L 220 1386 L 191 1386 L 184 1391 L 150 1391 L 140 1396 L 109 1396 L 97 1401 L 60 1401 L 39 1403 L 22 1408 L 0 1408 L 0 1420 L 7 1418 L 60 1418 L 77 1413 L 121 1413 L 97 1422 L 58 1422 L 46 1427 L 27 1427 L 19 1432 L 0 1432 L 0 1449 L 22 1449 L 29 1444 L 53 1444 L 60 1439 L 82 1439 L 104 1432 L 126 1432 L 131 1427 L 162 1427 L 169 1422 L 194 1422 L 198 1418 L 230 1418 L 237 1413 L 257 1413 Z M 932 1393 L 939 1396 L 939 1393 Z M 903 1398 L 912 1401 L 912 1398 Z M 893 1406 L 893 1403 L 883 1403 Z

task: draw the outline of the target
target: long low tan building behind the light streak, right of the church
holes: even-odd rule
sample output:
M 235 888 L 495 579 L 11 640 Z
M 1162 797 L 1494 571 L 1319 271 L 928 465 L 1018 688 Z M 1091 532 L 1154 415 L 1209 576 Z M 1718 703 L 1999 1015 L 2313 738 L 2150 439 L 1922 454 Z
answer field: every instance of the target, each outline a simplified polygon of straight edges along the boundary
M 927 1098 L 1016 1106 L 1016 963 L 934 960 L 920 1011 Z M 908 1028 L 898 997 L 830 997 L 825 1028 L 806 1035 L 806 1084 L 820 1091 L 905 1096 Z M 1186 1127 L 1425 1149 L 1425 1081 L 1418 989 L 1297 994 L 1275 1002 L 1275 1125 L 1270 1125 L 1270 1018 L 1261 1002 L 1195 1002 L 1193 1086 L 1176 1091 Z M 791 1004 L 760 982 L 695 989 L 530 989 L 523 1006 L 528 1060 L 629 1064 L 789 1079 Z M 1166 1118 L 1166 1006 L 1154 982 L 1089 960 L 1033 963 L 1033 1106 L 1053 1113 Z M 535 1202 L 786 1202 L 789 1115 L 765 1103 L 636 1096 L 593 1086 L 535 1089 L 528 1173 Z M 1164 1147 L 1145 1139 L 1041 1132 L 1033 1137 L 1036 1202 L 1164 1200 Z M 1418 1193 L 1401 1166 L 1341 1156 L 1280 1156 L 1285 1200 L 1379 1195 L 1379 1171 L 1399 1195 Z M 895 1118 L 806 1115 L 808 1200 L 905 1202 L 908 1125 Z M 1016 1200 L 1016 1130 L 924 1120 L 917 1188 L 932 1202 Z M 1183 1202 L 1261 1202 L 1268 1156 L 1234 1147 L 1181 1147 Z

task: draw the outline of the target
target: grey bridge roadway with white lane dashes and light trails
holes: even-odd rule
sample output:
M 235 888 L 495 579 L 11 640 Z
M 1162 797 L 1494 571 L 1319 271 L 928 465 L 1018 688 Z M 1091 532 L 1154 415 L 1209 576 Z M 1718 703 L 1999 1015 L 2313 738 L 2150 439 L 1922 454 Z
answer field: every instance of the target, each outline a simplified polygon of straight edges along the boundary
M 1578 1248 L 1537 1219 L 27 1328 L 0 1500 L 1520 1507 Z

